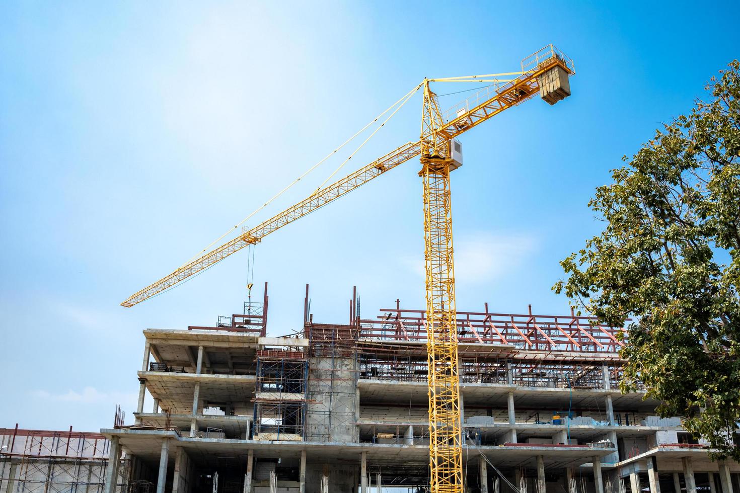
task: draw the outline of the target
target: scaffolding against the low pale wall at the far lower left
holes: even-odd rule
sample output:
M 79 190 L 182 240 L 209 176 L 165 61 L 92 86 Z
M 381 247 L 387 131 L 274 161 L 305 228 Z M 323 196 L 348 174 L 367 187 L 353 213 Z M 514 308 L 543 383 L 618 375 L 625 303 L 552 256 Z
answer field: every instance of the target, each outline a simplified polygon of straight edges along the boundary
M 0 489 L 12 493 L 102 493 L 110 441 L 98 433 L 0 429 Z M 128 460 L 116 489 L 127 491 Z

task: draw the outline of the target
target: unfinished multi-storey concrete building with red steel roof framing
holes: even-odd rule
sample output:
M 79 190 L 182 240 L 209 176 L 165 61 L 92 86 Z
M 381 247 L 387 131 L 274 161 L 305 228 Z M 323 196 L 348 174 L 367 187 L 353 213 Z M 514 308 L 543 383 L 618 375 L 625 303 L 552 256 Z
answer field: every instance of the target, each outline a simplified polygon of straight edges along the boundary
M 212 327 L 144 330 L 135 424 L 4 430 L 0 492 L 425 492 L 425 312 L 356 306 L 314 322 L 306 288 L 297 336 L 267 336 L 266 294 Z M 619 391 L 616 327 L 525 312 L 457 313 L 465 492 L 740 492 L 737 463 Z

